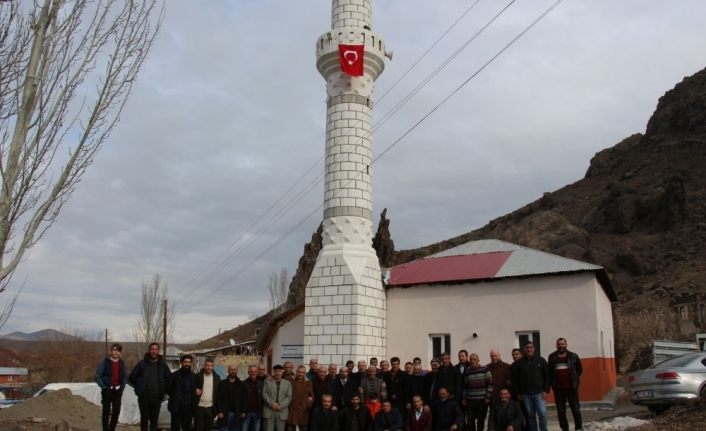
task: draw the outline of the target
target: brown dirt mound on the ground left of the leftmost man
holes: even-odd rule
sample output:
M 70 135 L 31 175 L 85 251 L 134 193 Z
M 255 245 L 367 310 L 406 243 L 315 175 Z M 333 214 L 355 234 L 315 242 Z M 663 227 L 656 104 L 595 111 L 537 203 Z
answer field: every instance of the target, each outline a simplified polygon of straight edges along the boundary
M 0 410 L 0 430 L 101 429 L 100 407 L 68 389 L 47 392 Z

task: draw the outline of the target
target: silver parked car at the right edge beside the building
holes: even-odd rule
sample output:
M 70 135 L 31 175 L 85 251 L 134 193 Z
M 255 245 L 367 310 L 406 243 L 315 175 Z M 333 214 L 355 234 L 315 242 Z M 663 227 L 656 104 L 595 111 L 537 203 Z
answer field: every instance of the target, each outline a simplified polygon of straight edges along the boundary
M 670 406 L 706 399 L 706 352 L 687 353 L 628 374 L 630 400 L 661 413 Z

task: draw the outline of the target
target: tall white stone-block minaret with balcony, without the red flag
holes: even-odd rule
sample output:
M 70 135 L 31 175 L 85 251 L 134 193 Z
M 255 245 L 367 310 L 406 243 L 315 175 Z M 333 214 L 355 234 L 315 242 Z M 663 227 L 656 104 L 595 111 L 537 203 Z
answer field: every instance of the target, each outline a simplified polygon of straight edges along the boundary
M 332 0 L 331 31 L 316 43 L 326 80 L 323 249 L 306 286 L 304 361 L 342 365 L 385 356 L 385 291 L 372 248 L 372 96 L 385 42 L 370 0 Z M 364 75 L 341 71 L 339 44 L 365 45 Z M 389 56 L 389 55 L 388 55 Z

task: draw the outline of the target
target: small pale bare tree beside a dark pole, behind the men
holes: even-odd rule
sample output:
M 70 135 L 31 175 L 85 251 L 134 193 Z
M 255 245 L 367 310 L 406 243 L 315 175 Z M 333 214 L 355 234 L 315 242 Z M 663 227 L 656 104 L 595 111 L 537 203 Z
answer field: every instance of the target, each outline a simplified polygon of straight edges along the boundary
M 152 342 L 161 342 L 164 338 L 164 301 L 168 300 L 167 283 L 159 274 L 152 277 L 151 283 L 142 283 L 142 304 L 140 319 L 135 327 L 135 341 L 140 352 L 146 352 Z M 174 335 L 174 304 L 167 307 L 167 339 Z

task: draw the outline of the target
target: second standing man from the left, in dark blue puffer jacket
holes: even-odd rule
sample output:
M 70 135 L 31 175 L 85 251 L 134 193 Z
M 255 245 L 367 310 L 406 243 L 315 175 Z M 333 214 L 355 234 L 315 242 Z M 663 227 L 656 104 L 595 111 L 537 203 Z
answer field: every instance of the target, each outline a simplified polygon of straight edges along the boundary
M 128 379 L 137 395 L 140 431 L 157 431 L 159 409 L 167 393 L 170 376 L 169 367 L 159 354 L 159 344 L 150 344 L 144 359 L 135 365 Z

